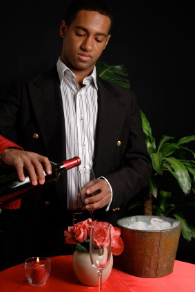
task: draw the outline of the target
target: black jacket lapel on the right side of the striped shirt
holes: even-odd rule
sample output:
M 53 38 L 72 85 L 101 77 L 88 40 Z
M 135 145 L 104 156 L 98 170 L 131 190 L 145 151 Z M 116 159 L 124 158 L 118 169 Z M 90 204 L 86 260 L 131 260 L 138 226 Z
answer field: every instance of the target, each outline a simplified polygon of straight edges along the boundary
M 96 177 L 106 174 L 110 160 L 120 140 L 121 127 L 125 118 L 127 100 L 97 76 L 98 118 L 94 154 Z

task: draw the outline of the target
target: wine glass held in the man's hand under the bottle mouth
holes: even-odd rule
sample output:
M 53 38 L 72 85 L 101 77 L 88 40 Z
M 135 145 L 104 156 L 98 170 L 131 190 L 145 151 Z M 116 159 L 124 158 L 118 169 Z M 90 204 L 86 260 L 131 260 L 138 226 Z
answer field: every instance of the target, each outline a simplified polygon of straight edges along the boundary
M 89 183 L 91 180 L 95 179 L 94 171 L 93 169 L 83 168 L 79 170 L 79 190 L 81 194 L 81 201 L 83 203 L 83 206 L 86 206 L 85 199 L 94 196 L 94 194 L 86 194 L 85 190 L 83 190 L 83 186 L 86 185 L 86 183 Z M 89 209 L 90 211 L 90 217 L 92 221 L 94 220 L 94 213 L 93 209 Z

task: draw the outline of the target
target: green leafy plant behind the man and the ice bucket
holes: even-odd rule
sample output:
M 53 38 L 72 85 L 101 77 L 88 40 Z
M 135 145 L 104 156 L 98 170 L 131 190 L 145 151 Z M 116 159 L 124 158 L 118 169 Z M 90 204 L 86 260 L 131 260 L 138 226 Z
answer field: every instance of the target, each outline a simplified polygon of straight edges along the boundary
M 116 83 L 122 87 L 130 88 L 128 73 L 123 65 L 107 65 L 103 62 L 96 63 L 99 76 L 106 81 Z M 195 198 L 192 193 L 195 191 L 195 153 L 186 147 L 187 143 L 195 140 L 195 135 L 187 136 L 176 140 L 174 137 L 163 136 L 158 145 L 152 136 L 152 129 L 145 114 L 141 111 L 143 132 L 145 134 L 147 151 L 152 159 L 152 176 L 145 189 L 144 200 L 132 200 L 128 209 L 143 207 L 145 215 L 170 216 L 181 221 L 181 233 L 186 240 L 195 238 L 195 228 L 185 219 L 183 209 L 185 206 L 193 207 Z M 163 179 L 170 174 L 172 181 L 170 189 L 164 187 Z M 166 179 L 165 179 L 166 180 Z M 185 196 L 174 197 L 176 186 L 182 190 Z

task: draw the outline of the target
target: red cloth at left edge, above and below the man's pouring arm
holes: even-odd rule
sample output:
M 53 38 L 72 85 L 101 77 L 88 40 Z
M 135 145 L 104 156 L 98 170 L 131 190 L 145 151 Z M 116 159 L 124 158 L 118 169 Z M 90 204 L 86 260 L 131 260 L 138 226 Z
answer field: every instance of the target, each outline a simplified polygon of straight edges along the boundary
M 0 135 L 0 154 L 3 153 L 4 150 L 6 150 L 8 147 L 17 147 L 23 150 L 22 147 L 17 145 L 16 143 L 4 138 Z M 4 209 L 19 209 L 21 206 L 21 199 L 15 200 L 13 202 L 8 202 L 7 204 L 3 205 L 1 208 Z

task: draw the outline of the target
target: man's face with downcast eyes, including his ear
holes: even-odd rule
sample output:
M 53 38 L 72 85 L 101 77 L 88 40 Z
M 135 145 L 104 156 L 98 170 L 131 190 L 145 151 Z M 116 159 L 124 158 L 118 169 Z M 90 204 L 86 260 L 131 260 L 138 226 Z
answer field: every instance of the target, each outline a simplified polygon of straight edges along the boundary
M 61 61 L 73 72 L 91 72 L 110 39 L 109 30 L 110 18 L 94 11 L 80 10 L 69 27 L 62 21 Z

